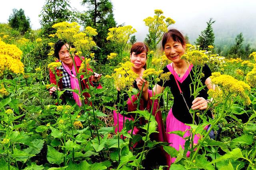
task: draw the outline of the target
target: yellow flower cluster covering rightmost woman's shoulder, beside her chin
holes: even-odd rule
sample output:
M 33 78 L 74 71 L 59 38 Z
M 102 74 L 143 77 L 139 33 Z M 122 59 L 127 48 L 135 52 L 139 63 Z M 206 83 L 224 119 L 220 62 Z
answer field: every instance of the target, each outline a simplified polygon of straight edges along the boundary
M 208 56 L 202 51 L 194 50 L 189 51 L 187 54 L 182 55 L 181 59 L 192 63 L 193 65 L 203 66 L 208 61 Z

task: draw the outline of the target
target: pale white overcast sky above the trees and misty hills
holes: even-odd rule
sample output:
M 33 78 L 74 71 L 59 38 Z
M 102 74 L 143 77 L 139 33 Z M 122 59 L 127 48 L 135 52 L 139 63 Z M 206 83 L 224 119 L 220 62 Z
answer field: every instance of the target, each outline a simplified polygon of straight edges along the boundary
M 38 29 L 38 15 L 44 3 L 44 0 L 4 0 L 1 2 L 0 22 L 8 22 L 13 8 L 22 8 L 30 18 L 32 29 Z M 86 10 L 80 3 L 81 0 L 70 0 L 71 7 L 79 11 Z M 112 3 L 117 23 L 132 25 L 137 30 L 139 41 L 143 41 L 148 32 L 143 20 L 154 16 L 155 9 L 161 9 L 164 16 L 174 19 L 176 23 L 171 27 L 188 34 L 192 39 L 206 27 L 209 18 L 216 20 L 214 31 L 222 31 L 228 25 L 241 27 L 240 30 L 256 30 L 256 0 L 112 0 Z M 255 35 L 256 32 L 249 34 Z

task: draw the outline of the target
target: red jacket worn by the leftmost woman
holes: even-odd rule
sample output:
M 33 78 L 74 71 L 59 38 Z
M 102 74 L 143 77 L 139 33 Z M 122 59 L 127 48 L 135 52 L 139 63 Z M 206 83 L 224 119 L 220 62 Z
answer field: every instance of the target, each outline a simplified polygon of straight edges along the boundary
M 82 59 L 84 59 L 84 57 L 82 57 Z M 78 72 L 78 70 L 79 70 L 79 68 L 80 68 L 80 66 L 81 66 L 81 64 L 82 64 L 82 61 L 80 60 L 80 58 L 79 58 L 78 56 L 75 56 L 75 57 L 74 57 L 74 61 L 75 61 L 75 64 L 76 64 L 76 70 L 77 70 L 77 72 Z M 59 62 L 59 60 L 56 61 L 56 62 Z M 60 73 L 61 70 L 59 70 L 59 69 L 57 69 L 57 68 L 55 68 L 55 70 L 56 70 L 57 76 L 62 77 L 62 73 Z M 87 65 L 87 71 L 88 71 L 88 72 L 93 72 L 92 69 L 90 68 L 89 64 Z M 86 82 L 87 82 L 87 79 L 82 80 L 83 78 L 84 78 L 84 75 L 80 76 L 80 82 L 81 82 L 82 91 L 83 91 L 84 89 L 86 89 L 86 88 L 87 88 L 87 89 L 89 88 L 88 84 L 86 83 Z M 55 84 L 55 85 L 57 84 L 56 78 L 55 78 L 55 74 L 54 74 L 51 70 L 50 70 L 50 82 L 51 82 L 51 84 Z M 90 82 L 91 86 L 94 87 L 94 85 L 92 84 L 92 76 L 89 77 L 89 82 Z M 59 87 L 60 89 L 63 89 L 62 78 L 60 78 L 60 80 L 59 80 L 59 82 L 58 82 L 58 87 Z M 99 85 L 97 88 L 102 88 L 102 86 Z M 88 104 L 87 98 L 90 97 L 90 94 L 89 94 L 88 92 L 84 92 L 83 95 L 84 95 L 84 97 L 85 97 L 85 101 L 84 101 L 84 102 L 85 102 L 86 104 Z

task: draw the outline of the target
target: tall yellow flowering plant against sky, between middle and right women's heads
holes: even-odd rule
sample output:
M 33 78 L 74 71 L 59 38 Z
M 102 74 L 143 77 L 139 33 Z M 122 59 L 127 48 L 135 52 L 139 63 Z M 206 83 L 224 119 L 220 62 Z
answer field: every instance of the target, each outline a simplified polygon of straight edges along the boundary
M 158 43 L 161 41 L 162 36 L 168 31 L 168 26 L 175 23 L 171 18 L 163 16 L 162 10 L 154 10 L 153 17 L 145 18 L 143 21 L 148 26 L 148 33 L 151 43 L 149 44 L 150 50 L 155 50 Z M 165 19 L 165 20 L 164 20 Z

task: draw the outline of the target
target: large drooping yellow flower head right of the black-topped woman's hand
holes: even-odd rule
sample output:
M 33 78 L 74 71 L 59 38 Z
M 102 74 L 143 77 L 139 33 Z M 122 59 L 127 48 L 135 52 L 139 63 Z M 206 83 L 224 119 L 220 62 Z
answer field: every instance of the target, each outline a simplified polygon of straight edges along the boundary
M 233 96 L 240 95 L 244 99 L 244 104 L 250 104 L 250 98 L 246 95 L 245 90 L 250 90 L 250 86 L 243 81 L 236 80 L 229 75 L 220 75 L 219 72 L 212 73 L 210 76 L 212 83 L 220 87 L 224 94 L 231 93 Z

